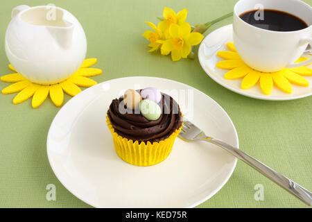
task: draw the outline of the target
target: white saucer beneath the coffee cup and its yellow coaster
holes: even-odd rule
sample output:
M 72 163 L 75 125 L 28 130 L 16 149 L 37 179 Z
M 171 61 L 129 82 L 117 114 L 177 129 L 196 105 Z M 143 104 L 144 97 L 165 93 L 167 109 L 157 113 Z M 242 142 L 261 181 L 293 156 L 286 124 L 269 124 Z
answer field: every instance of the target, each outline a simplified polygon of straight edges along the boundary
M 242 94 L 244 96 L 249 96 L 254 99 L 281 101 L 300 99 L 312 95 L 312 76 L 304 76 L 304 78 L 310 82 L 309 87 L 300 87 L 292 84 L 293 93 L 286 94 L 274 86 L 272 93 L 268 96 L 261 92 L 259 83 L 250 89 L 241 89 L 241 81 L 243 80 L 242 78 L 236 80 L 226 80 L 223 78 L 227 70 L 216 67 L 216 63 L 223 60 L 222 58 L 218 57 L 216 53 L 218 51 L 229 51 L 226 44 L 227 42 L 233 42 L 232 35 L 232 24 L 218 28 L 207 35 L 204 40 L 202 40 L 202 43 L 198 49 L 198 58 L 202 69 L 204 69 L 208 76 L 216 81 L 216 83 L 219 83 L 223 87 L 232 90 L 233 92 Z M 309 65 L 308 67 L 312 68 L 312 65 Z

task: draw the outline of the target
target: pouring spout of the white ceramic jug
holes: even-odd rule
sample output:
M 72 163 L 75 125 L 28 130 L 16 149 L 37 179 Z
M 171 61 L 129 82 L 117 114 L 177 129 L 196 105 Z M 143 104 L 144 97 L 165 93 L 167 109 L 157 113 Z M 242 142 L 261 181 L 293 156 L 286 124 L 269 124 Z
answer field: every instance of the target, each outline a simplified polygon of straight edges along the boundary
M 66 24 L 66 26 L 47 26 L 46 28 L 60 47 L 69 49 L 73 40 L 73 24 L 69 22 L 64 22 L 64 24 Z

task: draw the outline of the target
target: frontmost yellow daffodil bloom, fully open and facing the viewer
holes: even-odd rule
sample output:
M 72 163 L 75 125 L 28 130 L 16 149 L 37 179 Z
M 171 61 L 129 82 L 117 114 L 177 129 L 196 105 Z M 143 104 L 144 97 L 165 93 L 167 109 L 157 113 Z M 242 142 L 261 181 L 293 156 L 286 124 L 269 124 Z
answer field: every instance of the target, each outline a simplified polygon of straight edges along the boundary
M 158 40 L 161 43 L 162 55 L 168 55 L 171 52 L 173 61 L 187 58 L 191 52 L 191 46 L 200 44 L 204 36 L 200 33 L 191 33 L 191 26 L 184 22 L 181 26 L 171 24 L 169 28 L 170 38 L 168 40 Z

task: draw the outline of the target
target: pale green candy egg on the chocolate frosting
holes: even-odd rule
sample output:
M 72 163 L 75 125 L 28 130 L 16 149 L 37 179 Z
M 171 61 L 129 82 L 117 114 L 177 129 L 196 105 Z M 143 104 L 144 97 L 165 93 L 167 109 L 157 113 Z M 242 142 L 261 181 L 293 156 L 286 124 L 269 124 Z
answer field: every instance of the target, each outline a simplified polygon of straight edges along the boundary
M 162 114 L 159 105 L 150 99 L 144 99 L 140 102 L 140 112 L 148 120 L 157 120 Z

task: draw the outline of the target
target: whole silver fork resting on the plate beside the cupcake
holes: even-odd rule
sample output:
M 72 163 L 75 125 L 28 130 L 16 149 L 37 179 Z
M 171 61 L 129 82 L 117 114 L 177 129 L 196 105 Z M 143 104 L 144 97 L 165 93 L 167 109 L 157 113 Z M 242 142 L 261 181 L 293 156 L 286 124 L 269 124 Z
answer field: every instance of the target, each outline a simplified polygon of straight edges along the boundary
M 243 160 L 254 169 L 257 169 L 257 171 L 262 173 L 264 176 L 276 182 L 277 185 L 283 187 L 284 189 L 286 189 L 286 191 L 290 192 L 291 194 L 302 200 L 304 203 L 311 206 L 311 191 L 293 182 L 293 180 L 286 178 L 285 176 L 281 175 L 281 173 L 278 173 L 274 169 L 271 169 L 259 160 L 254 159 L 247 153 L 239 150 L 239 148 L 235 148 L 234 146 L 231 146 L 220 139 L 208 137 L 202 130 L 200 130 L 200 128 L 195 126 L 190 121 L 184 121 L 182 125 L 182 130 L 178 137 L 187 142 L 207 141 L 224 148 L 226 151 L 232 153 L 240 160 Z

